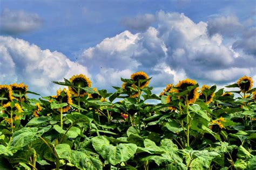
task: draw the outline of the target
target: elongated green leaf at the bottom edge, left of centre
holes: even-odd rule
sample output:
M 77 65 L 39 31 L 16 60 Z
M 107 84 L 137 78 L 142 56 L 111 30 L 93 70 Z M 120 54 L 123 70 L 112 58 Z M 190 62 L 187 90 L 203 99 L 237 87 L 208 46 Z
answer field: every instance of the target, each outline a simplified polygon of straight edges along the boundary
M 95 155 L 71 150 L 68 144 L 59 144 L 55 148 L 60 159 L 66 159 L 79 169 L 103 169 L 103 163 Z

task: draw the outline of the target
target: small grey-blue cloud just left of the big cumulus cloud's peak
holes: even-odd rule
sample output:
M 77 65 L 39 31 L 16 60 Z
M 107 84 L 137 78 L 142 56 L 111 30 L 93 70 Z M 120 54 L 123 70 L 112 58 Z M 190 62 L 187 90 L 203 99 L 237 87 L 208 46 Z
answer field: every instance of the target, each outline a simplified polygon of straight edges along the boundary
M 156 17 L 152 14 L 146 13 L 134 18 L 125 18 L 123 19 L 122 24 L 131 30 L 145 31 L 154 22 L 156 22 Z

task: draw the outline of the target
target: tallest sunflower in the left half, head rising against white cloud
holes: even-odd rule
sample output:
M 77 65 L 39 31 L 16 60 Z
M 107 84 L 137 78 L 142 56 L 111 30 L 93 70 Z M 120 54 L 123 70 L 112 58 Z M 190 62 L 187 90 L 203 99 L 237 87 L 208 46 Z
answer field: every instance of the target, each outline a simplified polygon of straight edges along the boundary
M 73 75 L 69 81 L 73 84 L 74 87 L 69 87 L 70 93 L 74 96 L 78 96 L 78 88 L 80 87 L 91 87 L 92 82 L 83 74 Z M 80 89 L 79 96 L 83 97 L 87 93 L 85 90 Z

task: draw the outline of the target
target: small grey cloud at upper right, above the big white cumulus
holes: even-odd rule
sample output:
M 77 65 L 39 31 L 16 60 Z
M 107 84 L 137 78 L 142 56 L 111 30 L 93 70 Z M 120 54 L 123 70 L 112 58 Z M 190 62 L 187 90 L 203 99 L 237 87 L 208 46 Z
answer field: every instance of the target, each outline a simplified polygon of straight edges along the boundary
M 234 37 L 237 36 L 242 29 L 244 29 L 242 24 L 239 22 L 238 17 L 234 15 L 210 18 L 208 20 L 208 33 L 210 36 L 219 33 L 227 37 Z

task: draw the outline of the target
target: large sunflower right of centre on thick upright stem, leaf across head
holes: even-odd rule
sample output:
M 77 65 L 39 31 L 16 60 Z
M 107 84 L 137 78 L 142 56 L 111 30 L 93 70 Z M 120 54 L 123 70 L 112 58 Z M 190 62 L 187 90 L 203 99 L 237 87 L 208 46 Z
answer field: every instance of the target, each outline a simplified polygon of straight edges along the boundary
M 186 79 L 186 80 L 179 81 L 179 83 L 176 85 L 176 87 L 179 88 L 178 93 L 181 93 L 182 91 L 186 90 L 187 87 L 194 86 L 196 84 L 197 84 L 196 81 Z M 196 100 L 199 97 L 198 90 L 199 90 L 199 88 L 197 87 L 188 93 L 188 104 L 192 104 L 192 103 L 196 102 Z

